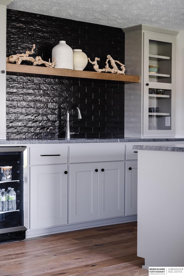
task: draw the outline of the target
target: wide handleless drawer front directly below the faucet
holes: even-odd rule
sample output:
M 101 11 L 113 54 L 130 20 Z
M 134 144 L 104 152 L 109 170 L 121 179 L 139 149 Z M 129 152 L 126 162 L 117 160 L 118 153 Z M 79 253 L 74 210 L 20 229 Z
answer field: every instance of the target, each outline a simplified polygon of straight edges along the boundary
M 70 163 L 124 160 L 124 145 L 70 146 Z

